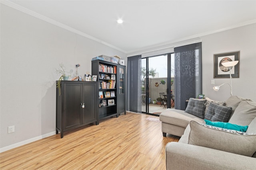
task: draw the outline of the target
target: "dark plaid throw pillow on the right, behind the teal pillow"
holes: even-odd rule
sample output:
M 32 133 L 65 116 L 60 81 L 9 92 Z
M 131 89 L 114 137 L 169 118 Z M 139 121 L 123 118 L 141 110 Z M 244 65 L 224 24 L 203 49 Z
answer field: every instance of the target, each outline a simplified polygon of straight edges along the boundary
M 210 121 L 228 122 L 232 113 L 232 107 L 221 106 L 218 104 L 210 103 L 204 119 Z

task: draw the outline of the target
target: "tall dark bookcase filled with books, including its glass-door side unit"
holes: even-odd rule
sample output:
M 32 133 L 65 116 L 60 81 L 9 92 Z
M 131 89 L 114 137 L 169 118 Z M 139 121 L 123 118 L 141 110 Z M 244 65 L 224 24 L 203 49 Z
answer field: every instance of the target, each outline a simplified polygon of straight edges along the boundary
M 120 113 L 125 113 L 125 66 L 120 67 L 119 64 L 94 60 L 92 75 L 97 75 L 99 83 L 98 119 L 118 117 Z

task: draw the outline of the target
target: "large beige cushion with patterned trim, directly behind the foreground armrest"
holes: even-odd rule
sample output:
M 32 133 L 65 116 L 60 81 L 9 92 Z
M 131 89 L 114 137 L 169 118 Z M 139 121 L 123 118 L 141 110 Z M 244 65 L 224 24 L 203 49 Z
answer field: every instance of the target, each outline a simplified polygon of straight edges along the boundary
M 256 134 L 190 121 L 188 144 L 250 156 L 256 152 Z

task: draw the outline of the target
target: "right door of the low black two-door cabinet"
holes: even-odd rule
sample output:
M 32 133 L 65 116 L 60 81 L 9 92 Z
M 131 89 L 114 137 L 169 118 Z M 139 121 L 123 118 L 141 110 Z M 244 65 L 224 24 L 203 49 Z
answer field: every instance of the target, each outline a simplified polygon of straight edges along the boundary
M 82 103 L 84 103 L 84 108 L 82 109 L 82 124 L 97 120 L 96 97 L 98 95 L 95 93 L 97 92 L 96 88 L 96 83 L 83 84 Z

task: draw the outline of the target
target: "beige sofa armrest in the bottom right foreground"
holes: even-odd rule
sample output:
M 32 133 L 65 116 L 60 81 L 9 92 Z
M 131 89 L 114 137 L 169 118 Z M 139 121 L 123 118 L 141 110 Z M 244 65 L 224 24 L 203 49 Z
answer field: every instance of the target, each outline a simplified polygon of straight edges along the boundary
M 166 145 L 166 170 L 255 170 L 256 158 L 221 150 L 170 142 Z

